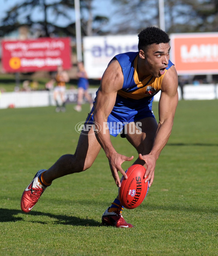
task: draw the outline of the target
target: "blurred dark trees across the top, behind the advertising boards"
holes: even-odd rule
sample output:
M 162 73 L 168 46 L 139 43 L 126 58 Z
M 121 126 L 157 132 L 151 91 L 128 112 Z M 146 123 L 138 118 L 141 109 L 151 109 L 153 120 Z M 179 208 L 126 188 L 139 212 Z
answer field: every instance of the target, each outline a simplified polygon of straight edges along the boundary
M 104 29 L 108 17 L 93 15 L 93 1 L 80 0 L 82 35 L 135 34 L 147 26 L 160 26 L 158 0 L 104 0 L 116 8 L 108 13 L 110 31 Z M 166 32 L 218 31 L 218 0 L 165 0 L 164 4 Z M 0 20 L 0 36 L 24 25 L 35 36 L 75 36 L 74 1 L 20 0 Z

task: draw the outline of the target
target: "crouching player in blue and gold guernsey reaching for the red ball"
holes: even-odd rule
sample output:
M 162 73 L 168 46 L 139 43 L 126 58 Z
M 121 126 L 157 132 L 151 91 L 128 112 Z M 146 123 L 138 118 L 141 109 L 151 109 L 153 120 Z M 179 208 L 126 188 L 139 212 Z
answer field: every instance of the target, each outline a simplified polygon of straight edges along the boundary
M 54 179 L 74 172 L 85 171 L 92 166 L 101 148 L 109 161 L 114 181 L 120 187 L 118 171 L 127 178 L 121 164 L 133 156 L 119 154 L 113 147 L 110 135 L 121 133 L 136 148 L 139 156 L 134 164 L 146 168 L 145 182 L 149 187 L 154 180 L 156 161 L 166 145 L 178 103 L 178 76 L 169 60 L 169 36 L 157 27 L 148 27 L 138 35 L 138 52 L 116 55 L 106 68 L 93 108 L 85 126 L 93 124 L 89 131 L 81 133 L 74 155 L 61 156 L 48 170 L 37 172 L 21 198 L 21 209 L 29 212 L 47 186 Z M 152 112 L 153 96 L 161 91 L 159 122 Z M 116 122 L 119 125 L 110 125 Z M 108 129 L 94 133 L 94 123 Z M 140 132 L 129 132 L 129 125 L 140 123 Z M 89 136 L 87 136 L 89 135 Z M 122 217 L 123 207 L 117 197 L 102 216 L 102 223 L 121 228 L 132 228 Z

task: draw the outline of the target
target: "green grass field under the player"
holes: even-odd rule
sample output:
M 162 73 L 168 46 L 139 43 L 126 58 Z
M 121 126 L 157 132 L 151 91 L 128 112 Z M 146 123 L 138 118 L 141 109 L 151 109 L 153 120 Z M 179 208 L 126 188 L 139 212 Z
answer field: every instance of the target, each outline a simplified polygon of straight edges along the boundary
M 117 195 L 102 150 L 89 170 L 53 181 L 31 212 L 21 211 L 35 173 L 76 149 L 88 107 L 0 110 L 0 255 L 218 255 L 218 100 L 179 102 L 145 201 L 123 212 L 135 228 L 101 226 Z M 137 157 L 120 136 L 112 143 Z

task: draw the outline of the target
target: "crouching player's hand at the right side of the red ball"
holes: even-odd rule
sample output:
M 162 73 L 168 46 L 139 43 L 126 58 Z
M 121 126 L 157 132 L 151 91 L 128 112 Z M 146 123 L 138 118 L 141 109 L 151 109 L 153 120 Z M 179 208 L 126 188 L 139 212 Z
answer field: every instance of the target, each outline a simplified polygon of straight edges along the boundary
M 142 155 L 139 154 L 139 158 L 144 160 L 146 163 L 146 172 L 145 172 L 145 183 L 149 181 L 149 187 L 152 186 L 154 181 L 154 169 L 156 166 L 156 159 L 153 155 Z

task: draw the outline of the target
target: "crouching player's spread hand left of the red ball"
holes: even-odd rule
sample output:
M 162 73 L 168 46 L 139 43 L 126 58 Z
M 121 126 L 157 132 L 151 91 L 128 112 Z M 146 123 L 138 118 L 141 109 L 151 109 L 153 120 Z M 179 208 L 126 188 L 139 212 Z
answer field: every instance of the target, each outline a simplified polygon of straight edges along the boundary
M 112 176 L 114 178 L 114 181 L 117 185 L 117 187 L 120 187 L 120 177 L 118 175 L 118 171 L 121 172 L 121 174 L 124 176 L 124 179 L 127 179 L 127 175 L 125 171 L 122 169 L 121 164 L 125 161 L 131 161 L 133 160 L 134 156 L 128 157 L 124 155 L 120 155 L 118 153 L 113 153 L 112 156 L 108 158 L 110 170 L 112 172 Z

